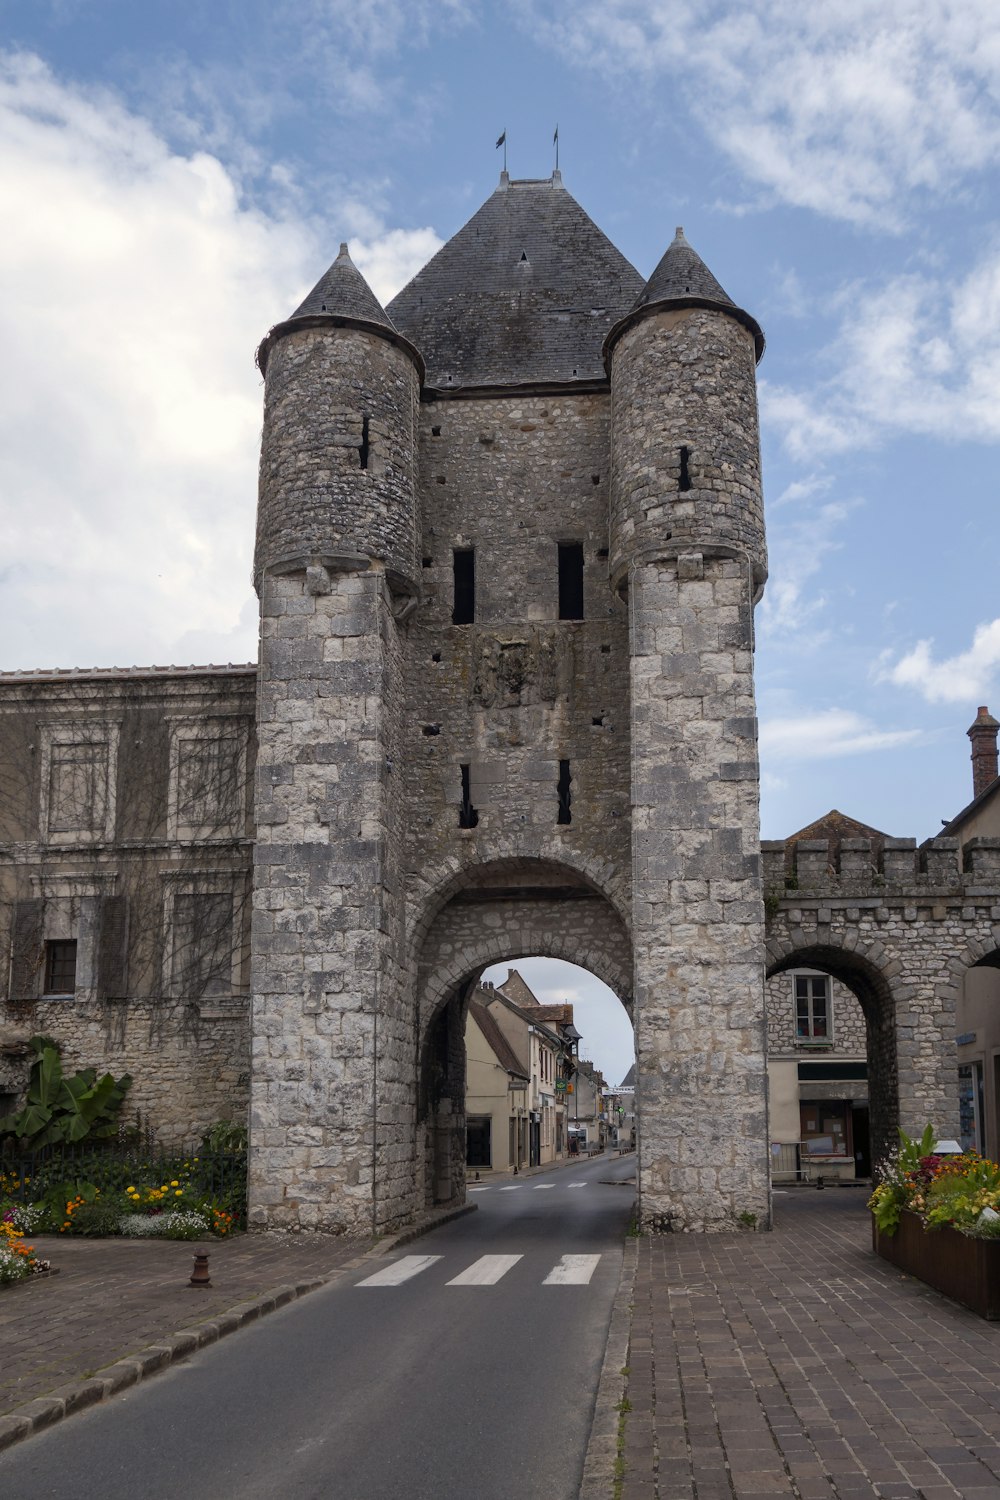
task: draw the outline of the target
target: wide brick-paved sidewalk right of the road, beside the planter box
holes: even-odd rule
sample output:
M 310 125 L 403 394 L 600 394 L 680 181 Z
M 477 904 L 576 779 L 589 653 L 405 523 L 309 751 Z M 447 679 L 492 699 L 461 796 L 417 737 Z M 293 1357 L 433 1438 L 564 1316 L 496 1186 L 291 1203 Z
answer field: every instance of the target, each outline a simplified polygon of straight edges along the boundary
M 1000 1324 L 871 1251 L 865 1194 L 637 1251 L 621 1500 L 1000 1496 Z

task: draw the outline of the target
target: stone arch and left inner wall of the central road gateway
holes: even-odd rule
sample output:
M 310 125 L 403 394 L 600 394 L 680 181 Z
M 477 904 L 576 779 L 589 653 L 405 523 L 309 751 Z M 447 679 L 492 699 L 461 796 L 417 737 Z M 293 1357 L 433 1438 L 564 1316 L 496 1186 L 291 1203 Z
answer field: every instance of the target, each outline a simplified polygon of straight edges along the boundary
M 465 1036 L 475 987 L 490 964 L 535 956 L 597 975 L 631 1018 L 625 922 L 579 872 L 546 860 L 496 861 L 453 879 L 424 927 L 418 960 L 417 1167 L 424 1206 L 465 1198 Z

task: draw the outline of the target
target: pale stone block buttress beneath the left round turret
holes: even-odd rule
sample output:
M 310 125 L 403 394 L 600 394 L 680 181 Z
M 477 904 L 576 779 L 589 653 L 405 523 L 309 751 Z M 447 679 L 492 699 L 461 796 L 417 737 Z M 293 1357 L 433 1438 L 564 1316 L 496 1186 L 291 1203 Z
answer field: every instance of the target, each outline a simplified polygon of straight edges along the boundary
M 394 1010 L 388 591 L 381 572 L 313 566 L 265 573 L 261 610 L 250 1221 L 370 1232 L 378 1032 Z

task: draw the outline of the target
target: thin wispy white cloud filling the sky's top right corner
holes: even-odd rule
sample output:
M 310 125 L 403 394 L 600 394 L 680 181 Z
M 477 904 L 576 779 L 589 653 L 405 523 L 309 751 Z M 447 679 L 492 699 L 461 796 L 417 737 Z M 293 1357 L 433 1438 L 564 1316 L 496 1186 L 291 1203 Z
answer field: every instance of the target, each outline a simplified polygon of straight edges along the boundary
M 786 202 L 898 228 L 1000 162 L 994 0 L 520 0 L 568 60 L 679 92 Z

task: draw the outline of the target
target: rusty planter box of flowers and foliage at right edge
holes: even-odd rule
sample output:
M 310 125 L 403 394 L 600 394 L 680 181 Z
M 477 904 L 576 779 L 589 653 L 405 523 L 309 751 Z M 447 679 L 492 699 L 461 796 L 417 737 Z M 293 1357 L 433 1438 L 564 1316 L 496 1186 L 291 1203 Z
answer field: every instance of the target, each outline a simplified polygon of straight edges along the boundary
M 1000 1318 L 1000 1166 L 975 1150 L 934 1152 L 900 1131 L 868 1200 L 876 1254 L 981 1317 Z

